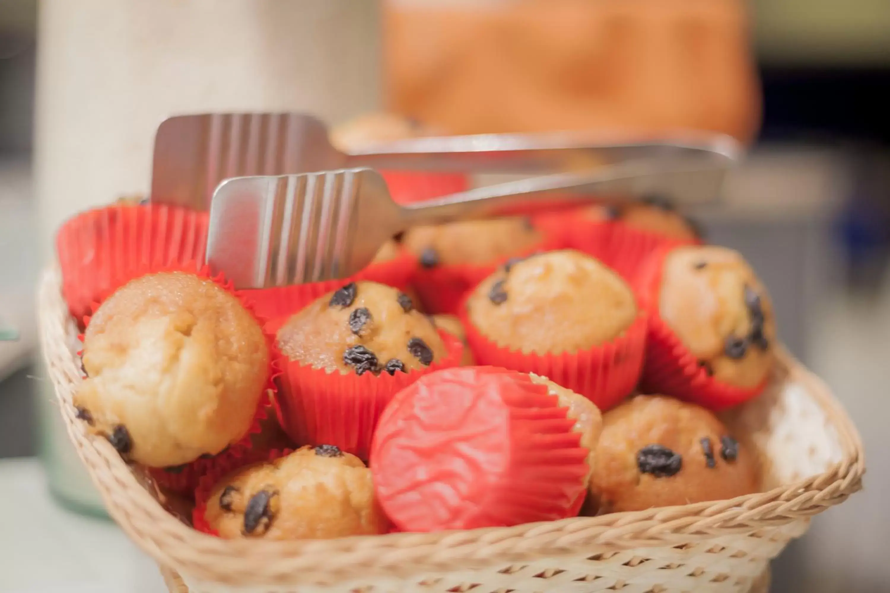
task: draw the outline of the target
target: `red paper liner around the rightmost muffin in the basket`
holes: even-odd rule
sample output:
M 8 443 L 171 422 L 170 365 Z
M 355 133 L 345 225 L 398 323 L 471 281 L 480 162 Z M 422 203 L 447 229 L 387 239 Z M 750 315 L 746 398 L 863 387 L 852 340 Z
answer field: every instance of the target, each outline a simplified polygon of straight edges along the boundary
M 646 356 L 640 387 L 644 393 L 677 397 L 714 411 L 739 405 L 760 395 L 768 379 L 753 388 L 717 381 L 699 365 L 659 314 L 661 271 L 667 254 L 676 246 L 662 245 L 645 260 L 636 278 L 636 292 L 649 316 Z

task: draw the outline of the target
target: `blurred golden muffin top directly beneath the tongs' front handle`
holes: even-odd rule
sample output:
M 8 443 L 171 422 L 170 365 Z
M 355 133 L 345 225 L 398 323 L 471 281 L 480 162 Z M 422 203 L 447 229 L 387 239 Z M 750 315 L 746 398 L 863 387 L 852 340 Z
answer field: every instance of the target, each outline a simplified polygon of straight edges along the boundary
M 528 252 L 544 239 L 523 217 L 465 220 L 410 228 L 402 239 L 424 268 L 488 264 Z

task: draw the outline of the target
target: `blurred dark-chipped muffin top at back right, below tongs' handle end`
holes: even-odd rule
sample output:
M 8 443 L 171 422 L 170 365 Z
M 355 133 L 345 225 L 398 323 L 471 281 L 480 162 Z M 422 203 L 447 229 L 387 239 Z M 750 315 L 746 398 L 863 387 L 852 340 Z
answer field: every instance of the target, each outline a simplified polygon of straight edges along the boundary
M 628 228 L 668 239 L 695 241 L 700 238 L 698 224 L 659 196 L 649 196 L 640 202 L 591 206 L 585 210 L 585 216 L 598 221 L 619 220 Z

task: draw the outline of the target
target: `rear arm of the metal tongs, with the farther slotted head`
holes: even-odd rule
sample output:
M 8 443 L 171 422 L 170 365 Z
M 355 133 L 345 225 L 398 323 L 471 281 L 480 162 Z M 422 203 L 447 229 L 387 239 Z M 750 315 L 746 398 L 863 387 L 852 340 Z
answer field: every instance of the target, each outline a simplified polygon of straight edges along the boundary
M 174 116 L 158 127 L 151 200 L 206 210 L 214 189 L 225 179 L 360 166 L 535 175 L 631 161 L 660 168 L 695 162 L 702 169 L 722 169 L 739 154 L 735 140 L 700 132 L 630 141 L 626 136 L 591 138 L 576 132 L 450 136 L 400 140 L 347 154 L 330 143 L 325 124 L 305 114 Z M 565 183 L 562 187 L 570 187 Z M 576 189 L 602 191 L 600 185 Z M 684 192 L 677 198 L 701 202 L 715 196 Z

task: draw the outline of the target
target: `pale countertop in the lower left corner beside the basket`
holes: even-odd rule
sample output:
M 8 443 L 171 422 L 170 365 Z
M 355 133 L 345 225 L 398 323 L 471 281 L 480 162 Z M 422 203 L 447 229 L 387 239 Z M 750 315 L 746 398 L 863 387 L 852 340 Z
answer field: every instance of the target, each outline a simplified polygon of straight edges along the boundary
M 63 509 L 34 458 L 0 461 L 0 593 L 165 593 L 109 519 Z

